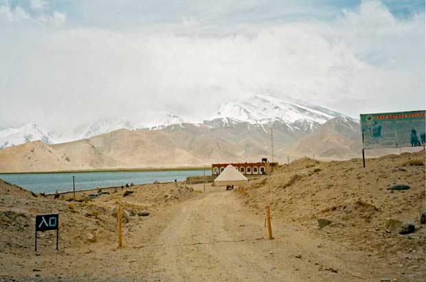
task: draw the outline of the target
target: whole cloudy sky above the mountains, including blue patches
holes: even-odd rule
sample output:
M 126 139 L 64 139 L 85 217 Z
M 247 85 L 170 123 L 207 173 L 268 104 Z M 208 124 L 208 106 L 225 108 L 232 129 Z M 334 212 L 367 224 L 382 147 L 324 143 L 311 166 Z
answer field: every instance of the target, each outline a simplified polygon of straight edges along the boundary
M 213 117 L 286 95 L 425 108 L 425 1 L 0 0 L 0 128 Z

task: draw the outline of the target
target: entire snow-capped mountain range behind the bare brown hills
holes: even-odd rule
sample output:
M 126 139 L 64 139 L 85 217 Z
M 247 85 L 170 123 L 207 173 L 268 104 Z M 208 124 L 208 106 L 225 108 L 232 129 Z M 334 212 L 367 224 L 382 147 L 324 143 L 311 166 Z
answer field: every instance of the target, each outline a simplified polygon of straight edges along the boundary
M 144 124 L 140 121 L 123 119 L 97 119 L 71 128 L 67 132 L 53 132 L 35 124 L 28 124 L 20 128 L 6 128 L 0 130 L 0 149 L 35 140 L 52 144 L 89 139 L 119 129 L 186 130 L 188 126 L 189 128 L 191 126 L 197 128 L 204 126 L 212 129 L 228 128 L 230 130 L 234 128 L 234 131 L 247 129 L 250 132 L 256 130 L 269 132 L 268 128 L 273 126 L 277 130 L 282 130 L 283 137 L 295 140 L 313 132 L 326 121 L 335 117 L 340 117 L 341 123 L 348 121 L 349 124 L 352 124 L 355 122 L 355 119 L 341 115 L 324 106 L 291 97 L 278 99 L 277 97 L 256 95 L 239 102 L 225 101 L 219 106 L 214 118 L 199 123 L 188 123 L 182 117 L 166 112 L 159 115 L 153 122 L 144 121 Z

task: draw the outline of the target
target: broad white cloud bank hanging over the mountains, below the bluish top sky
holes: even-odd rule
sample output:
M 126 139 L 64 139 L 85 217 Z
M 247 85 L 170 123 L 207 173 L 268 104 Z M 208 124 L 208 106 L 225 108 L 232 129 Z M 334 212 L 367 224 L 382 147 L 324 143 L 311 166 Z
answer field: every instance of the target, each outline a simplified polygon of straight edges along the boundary
M 105 116 L 150 121 L 159 110 L 203 119 L 222 99 L 258 93 L 355 117 L 425 104 L 424 13 L 400 20 L 373 1 L 328 23 L 245 23 L 223 32 L 206 32 L 202 23 L 188 17 L 124 31 L 0 27 L 0 37 L 12 39 L 0 45 L 0 127 Z

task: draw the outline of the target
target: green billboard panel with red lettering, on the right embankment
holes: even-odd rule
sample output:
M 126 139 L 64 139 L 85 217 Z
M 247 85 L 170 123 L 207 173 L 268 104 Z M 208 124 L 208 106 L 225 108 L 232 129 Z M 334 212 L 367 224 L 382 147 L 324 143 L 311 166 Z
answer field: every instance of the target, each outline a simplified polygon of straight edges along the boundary
M 360 115 L 364 149 L 426 145 L 425 110 Z

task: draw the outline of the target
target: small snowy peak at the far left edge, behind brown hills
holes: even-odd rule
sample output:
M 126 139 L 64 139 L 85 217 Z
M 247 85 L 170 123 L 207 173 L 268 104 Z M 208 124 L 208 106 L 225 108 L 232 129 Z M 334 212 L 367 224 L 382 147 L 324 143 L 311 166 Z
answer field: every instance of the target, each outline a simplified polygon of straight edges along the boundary
M 36 124 L 26 124 L 19 128 L 5 128 L 0 130 L 0 149 L 36 140 L 41 140 L 45 144 L 52 144 L 56 141 L 56 138 L 55 132 L 50 132 Z

